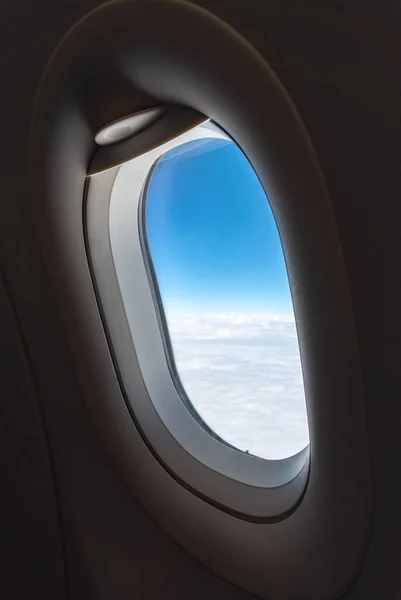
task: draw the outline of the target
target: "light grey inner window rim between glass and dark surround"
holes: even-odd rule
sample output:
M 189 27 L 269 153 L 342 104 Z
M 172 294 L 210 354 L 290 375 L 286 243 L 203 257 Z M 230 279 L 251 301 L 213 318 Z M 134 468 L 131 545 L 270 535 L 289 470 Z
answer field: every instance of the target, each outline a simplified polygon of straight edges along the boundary
M 87 250 L 125 397 L 155 455 L 188 489 L 223 510 L 246 519 L 277 518 L 294 510 L 304 493 L 309 447 L 282 460 L 266 460 L 223 444 L 193 418 L 169 370 L 164 325 L 143 251 L 143 192 L 156 161 L 190 140 L 229 139 L 204 120 L 134 160 L 91 177 L 86 194 Z M 119 193 L 118 178 L 125 173 L 131 182 L 129 196 L 122 181 Z M 125 322 L 129 336 L 123 331 Z M 132 374 L 136 361 L 144 387 Z

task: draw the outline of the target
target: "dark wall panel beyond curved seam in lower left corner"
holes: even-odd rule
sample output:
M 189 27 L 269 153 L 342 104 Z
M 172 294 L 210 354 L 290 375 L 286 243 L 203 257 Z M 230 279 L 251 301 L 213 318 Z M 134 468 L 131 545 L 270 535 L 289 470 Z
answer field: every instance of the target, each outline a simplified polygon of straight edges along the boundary
M 2 598 L 64 598 L 56 477 L 43 413 L 7 283 L 0 271 Z

